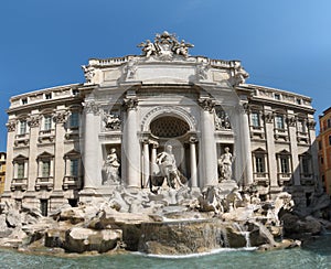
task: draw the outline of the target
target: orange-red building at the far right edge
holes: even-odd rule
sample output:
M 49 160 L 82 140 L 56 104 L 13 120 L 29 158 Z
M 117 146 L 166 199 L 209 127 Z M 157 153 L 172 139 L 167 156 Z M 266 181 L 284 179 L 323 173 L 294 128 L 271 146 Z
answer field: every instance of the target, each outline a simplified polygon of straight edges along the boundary
M 325 192 L 331 195 L 331 107 L 319 116 L 320 134 L 319 143 L 319 164 L 320 175 Z

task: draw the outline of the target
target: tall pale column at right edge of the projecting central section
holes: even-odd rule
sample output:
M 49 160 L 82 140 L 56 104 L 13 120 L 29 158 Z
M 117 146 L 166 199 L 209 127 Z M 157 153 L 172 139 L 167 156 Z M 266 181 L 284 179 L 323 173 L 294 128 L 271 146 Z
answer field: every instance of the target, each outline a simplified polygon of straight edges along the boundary
M 242 129 L 242 152 L 245 171 L 244 185 L 250 185 L 253 183 L 253 163 L 252 163 L 252 149 L 250 149 L 250 133 L 249 133 L 249 121 L 247 115 L 247 104 L 243 104 L 241 110 L 241 129 Z

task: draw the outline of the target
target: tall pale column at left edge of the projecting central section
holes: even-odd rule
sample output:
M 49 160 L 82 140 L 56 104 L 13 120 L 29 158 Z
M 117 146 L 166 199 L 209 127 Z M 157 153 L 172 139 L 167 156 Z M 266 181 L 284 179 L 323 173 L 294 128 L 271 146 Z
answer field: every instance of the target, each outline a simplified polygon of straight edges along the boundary
M 98 168 L 98 129 L 95 126 L 95 115 L 98 107 L 94 101 L 86 103 L 84 129 L 84 190 L 95 189 Z

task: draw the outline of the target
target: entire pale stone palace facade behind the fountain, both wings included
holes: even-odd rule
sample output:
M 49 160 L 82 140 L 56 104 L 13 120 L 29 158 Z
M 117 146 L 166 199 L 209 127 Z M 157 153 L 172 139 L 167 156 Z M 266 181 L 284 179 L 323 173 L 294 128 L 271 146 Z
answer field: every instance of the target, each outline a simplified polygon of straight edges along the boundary
M 286 190 L 308 203 L 318 181 L 309 97 L 245 84 L 239 61 L 190 56 L 193 45 L 168 32 L 139 46 L 139 56 L 89 60 L 83 84 L 11 98 L 3 198 L 46 215 L 118 185 L 152 190 L 171 146 L 192 189 L 217 185 L 229 151 L 227 180 L 261 200 Z

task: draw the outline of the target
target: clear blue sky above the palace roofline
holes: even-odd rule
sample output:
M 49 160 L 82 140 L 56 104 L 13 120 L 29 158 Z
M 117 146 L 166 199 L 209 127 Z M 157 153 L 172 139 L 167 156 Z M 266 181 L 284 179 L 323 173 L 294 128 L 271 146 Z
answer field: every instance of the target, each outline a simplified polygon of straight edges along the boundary
M 0 151 L 11 96 L 83 83 L 92 57 L 140 54 L 167 30 L 192 55 L 241 60 L 247 83 L 331 106 L 330 0 L 7 0 L 0 2 Z M 316 117 L 318 119 L 318 117 Z

